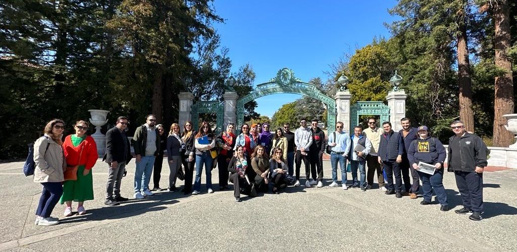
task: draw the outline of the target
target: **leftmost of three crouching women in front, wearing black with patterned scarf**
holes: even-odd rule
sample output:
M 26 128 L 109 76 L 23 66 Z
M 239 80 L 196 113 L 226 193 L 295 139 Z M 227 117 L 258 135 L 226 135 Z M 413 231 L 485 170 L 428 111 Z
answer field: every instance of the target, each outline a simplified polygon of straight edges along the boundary
M 251 186 L 250 178 L 246 178 L 248 176 L 246 174 L 246 169 L 248 168 L 249 161 L 244 155 L 244 146 L 237 145 L 235 146 L 236 151 L 230 160 L 230 164 L 228 165 L 228 171 L 232 173 L 230 175 L 230 182 L 233 183 L 233 196 L 235 197 L 235 201 L 240 202 L 240 190 L 246 187 Z M 251 178 L 253 179 L 253 178 Z M 245 190 L 246 191 L 246 190 Z M 250 193 L 251 194 L 251 193 Z M 252 196 L 252 195 L 250 195 Z

